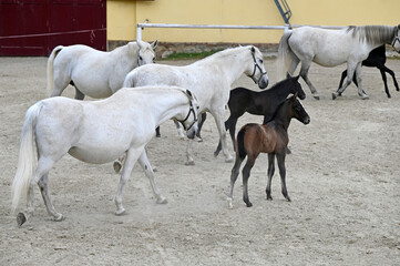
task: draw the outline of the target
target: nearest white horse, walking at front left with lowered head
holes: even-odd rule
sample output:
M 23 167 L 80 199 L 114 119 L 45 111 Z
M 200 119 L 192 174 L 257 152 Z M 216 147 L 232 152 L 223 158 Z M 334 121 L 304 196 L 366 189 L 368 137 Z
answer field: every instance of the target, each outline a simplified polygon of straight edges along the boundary
M 50 201 L 48 174 L 66 153 L 86 163 L 103 164 L 126 152 L 115 196 L 116 215 L 125 211 L 122 190 L 136 161 L 150 178 L 157 203 L 166 203 L 154 182 L 145 145 L 155 127 L 171 117 L 180 121 L 187 130 L 187 137 L 193 139 L 197 132 L 197 109 L 191 91 L 166 86 L 122 89 L 99 101 L 61 96 L 39 101 L 28 110 L 22 127 L 12 183 L 12 212 L 22 195 L 28 197 L 29 214 L 33 212 L 33 186 L 38 184 L 49 214 L 55 221 L 62 219 Z

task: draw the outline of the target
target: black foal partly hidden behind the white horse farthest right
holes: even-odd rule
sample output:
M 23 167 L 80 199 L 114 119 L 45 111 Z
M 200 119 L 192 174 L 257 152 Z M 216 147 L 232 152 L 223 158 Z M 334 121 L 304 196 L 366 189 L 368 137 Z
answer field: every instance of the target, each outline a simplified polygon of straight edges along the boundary
M 391 69 L 389 69 L 388 66 L 386 66 L 384 63 L 386 63 L 386 47 L 384 45 L 373 49 L 369 53 L 368 58 L 362 61 L 362 65 L 365 65 L 365 66 L 379 69 L 380 74 L 382 75 L 383 84 L 384 84 L 384 92 L 388 95 L 388 98 L 391 98 L 389 88 L 388 88 L 387 78 L 386 78 L 386 72 L 388 72 L 393 78 L 393 83 L 394 83 L 397 91 L 399 91 L 399 84 L 397 83 L 394 72 Z M 347 70 L 345 70 L 341 73 L 339 88 L 341 88 L 341 85 L 343 84 L 343 80 L 346 76 L 347 76 Z M 355 84 L 358 86 L 356 74 L 352 76 L 352 82 L 355 82 Z

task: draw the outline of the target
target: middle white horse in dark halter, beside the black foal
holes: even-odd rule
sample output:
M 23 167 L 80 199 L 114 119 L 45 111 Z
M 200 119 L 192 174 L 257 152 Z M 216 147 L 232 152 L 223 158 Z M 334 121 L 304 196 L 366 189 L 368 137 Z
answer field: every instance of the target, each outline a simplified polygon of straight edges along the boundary
M 224 114 L 230 85 L 242 74 L 253 79 L 260 89 L 268 85 L 263 54 L 253 45 L 226 49 L 185 66 L 143 65 L 126 75 L 124 86 L 165 84 L 189 89 L 197 96 L 199 113 L 208 111 L 214 116 L 226 162 L 232 162 L 233 157 L 226 145 Z M 192 140 L 187 144 L 186 156 L 185 164 L 193 165 Z

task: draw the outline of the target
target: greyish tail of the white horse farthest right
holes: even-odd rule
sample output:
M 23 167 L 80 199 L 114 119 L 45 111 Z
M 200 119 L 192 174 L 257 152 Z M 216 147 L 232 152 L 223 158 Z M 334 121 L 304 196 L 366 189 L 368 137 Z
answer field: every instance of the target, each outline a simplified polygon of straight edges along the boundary
M 279 41 L 278 59 L 277 59 L 278 80 L 286 79 L 286 74 L 289 70 L 291 60 L 294 58 L 297 58 L 296 54 L 291 51 L 288 42 L 289 38 L 291 37 L 291 33 L 293 31 L 285 32 Z

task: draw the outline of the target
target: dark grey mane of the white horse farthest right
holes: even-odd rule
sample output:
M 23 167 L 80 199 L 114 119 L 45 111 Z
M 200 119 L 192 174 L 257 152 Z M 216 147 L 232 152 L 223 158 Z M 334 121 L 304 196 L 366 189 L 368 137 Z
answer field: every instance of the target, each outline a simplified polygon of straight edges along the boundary
M 394 38 L 397 27 L 390 25 L 349 25 L 347 32 L 353 38 L 359 38 L 360 42 L 367 41 L 371 44 L 391 43 Z

